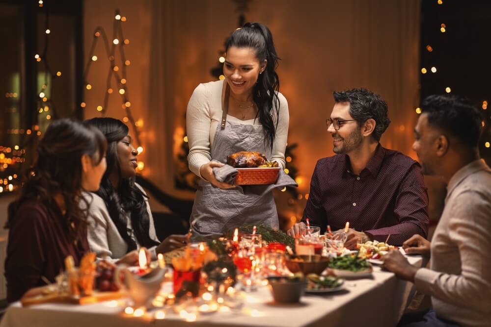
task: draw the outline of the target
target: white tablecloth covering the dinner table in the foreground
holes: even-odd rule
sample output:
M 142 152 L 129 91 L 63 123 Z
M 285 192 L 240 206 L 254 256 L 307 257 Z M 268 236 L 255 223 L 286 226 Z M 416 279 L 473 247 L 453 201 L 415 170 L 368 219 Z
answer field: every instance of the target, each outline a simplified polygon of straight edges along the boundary
M 409 257 L 417 267 L 420 257 Z M 412 290 L 412 284 L 397 279 L 394 274 L 374 267 L 373 278 L 347 280 L 346 291 L 323 295 L 305 295 L 300 304 L 274 304 L 267 287 L 248 294 L 240 311 L 198 315 L 196 321 L 183 321 L 167 312 L 164 320 L 130 317 L 122 313 L 124 303 L 113 302 L 87 305 L 41 304 L 23 308 L 12 304 L 1 320 L 0 327 L 139 327 L 139 326 L 267 326 L 267 327 L 389 327 L 395 326 Z

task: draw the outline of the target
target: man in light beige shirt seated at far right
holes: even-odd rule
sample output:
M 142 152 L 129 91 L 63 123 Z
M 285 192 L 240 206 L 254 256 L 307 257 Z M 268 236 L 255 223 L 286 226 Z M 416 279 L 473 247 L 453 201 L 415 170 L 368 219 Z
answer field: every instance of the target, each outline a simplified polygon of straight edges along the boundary
M 431 256 L 431 269 L 411 266 L 398 251 L 382 258 L 384 267 L 432 297 L 433 309 L 404 326 L 491 326 L 491 170 L 479 156 L 482 116 L 450 96 L 430 96 L 421 108 L 413 149 L 424 173 L 445 180 L 447 196 L 432 242 L 414 235 L 403 248 Z

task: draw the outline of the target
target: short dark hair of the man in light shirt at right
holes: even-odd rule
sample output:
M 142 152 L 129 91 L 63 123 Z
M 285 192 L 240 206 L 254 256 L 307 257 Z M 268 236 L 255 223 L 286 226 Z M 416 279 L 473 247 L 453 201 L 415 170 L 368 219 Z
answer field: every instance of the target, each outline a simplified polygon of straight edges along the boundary
M 467 99 L 456 95 L 431 95 L 423 100 L 421 110 L 428 114 L 428 124 L 448 132 L 466 146 L 478 146 L 483 116 Z

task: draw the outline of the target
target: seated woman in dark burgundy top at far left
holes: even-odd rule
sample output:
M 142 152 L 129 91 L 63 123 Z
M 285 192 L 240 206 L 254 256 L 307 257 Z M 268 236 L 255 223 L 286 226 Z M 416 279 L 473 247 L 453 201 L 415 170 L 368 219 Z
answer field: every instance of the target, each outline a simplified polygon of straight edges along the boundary
M 7 301 L 55 282 L 71 255 L 78 265 L 88 251 L 83 190 L 97 191 L 106 170 L 106 138 L 95 127 L 53 122 L 39 142 L 38 159 L 18 200 L 9 206 L 5 277 Z

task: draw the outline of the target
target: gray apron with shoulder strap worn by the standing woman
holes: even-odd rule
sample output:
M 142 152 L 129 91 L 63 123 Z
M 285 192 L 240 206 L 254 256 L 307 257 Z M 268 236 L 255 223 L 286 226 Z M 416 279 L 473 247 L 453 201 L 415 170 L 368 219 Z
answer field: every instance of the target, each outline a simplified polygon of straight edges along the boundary
M 227 121 L 230 90 L 227 82 L 223 83 L 226 84 L 225 92 L 222 91 L 223 114 L 211 147 L 212 160 L 226 163 L 227 156 L 238 151 L 258 151 L 271 158 L 271 150 L 265 146 L 263 126 Z M 237 185 L 223 190 L 201 179 L 199 186 L 190 219 L 193 239 L 198 236 L 222 235 L 235 227 L 250 224 L 279 228 L 273 192 L 258 190 L 267 185 Z

